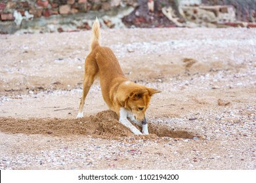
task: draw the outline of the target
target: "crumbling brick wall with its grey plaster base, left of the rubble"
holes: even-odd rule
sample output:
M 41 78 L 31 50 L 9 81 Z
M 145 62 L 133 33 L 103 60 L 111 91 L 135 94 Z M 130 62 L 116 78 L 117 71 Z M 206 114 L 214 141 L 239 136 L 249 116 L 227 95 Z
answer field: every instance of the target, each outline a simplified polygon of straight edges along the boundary
M 137 0 L 3 0 L 0 1 L 0 33 L 29 27 L 43 31 L 91 29 L 87 20 L 95 20 L 96 16 L 105 16 L 102 24 L 114 27 L 116 24 L 107 16 L 125 16 L 137 5 Z M 121 24 L 121 20 L 117 23 Z M 57 24 L 69 24 L 69 27 L 57 27 Z

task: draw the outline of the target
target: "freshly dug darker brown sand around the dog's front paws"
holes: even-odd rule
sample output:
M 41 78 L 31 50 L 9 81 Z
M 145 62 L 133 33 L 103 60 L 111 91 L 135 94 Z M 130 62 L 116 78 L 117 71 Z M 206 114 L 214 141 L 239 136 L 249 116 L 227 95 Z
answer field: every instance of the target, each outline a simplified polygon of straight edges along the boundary
M 194 135 L 187 131 L 173 131 L 162 125 L 148 124 L 150 135 L 148 139 L 157 137 L 172 137 L 192 139 Z M 117 115 L 112 110 L 98 112 L 95 116 L 85 116 L 79 119 L 59 118 L 0 118 L 0 131 L 5 133 L 42 134 L 53 136 L 92 135 L 107 139 L 129 137 L 134 134 L 120 124 Z

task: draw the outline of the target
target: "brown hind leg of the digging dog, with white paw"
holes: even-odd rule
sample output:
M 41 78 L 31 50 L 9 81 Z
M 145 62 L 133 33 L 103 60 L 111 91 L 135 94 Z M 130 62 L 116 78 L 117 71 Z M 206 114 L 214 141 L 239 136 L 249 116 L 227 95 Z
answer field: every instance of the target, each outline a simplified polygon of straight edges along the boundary
M 97 75 L 98 75 L 98 65 L 96 65 L 95 60 L 87 59 L 85 61 L 85 80 L 83 81 L 83 95 L 82 95 L 80 103 L 79 103 L 79 112 L 78 112 L 76 118 L 83 117 L 83 106 L 85 105 L 85 98 L 86 98 L 93 82 L 95 81 L 95 78 Z

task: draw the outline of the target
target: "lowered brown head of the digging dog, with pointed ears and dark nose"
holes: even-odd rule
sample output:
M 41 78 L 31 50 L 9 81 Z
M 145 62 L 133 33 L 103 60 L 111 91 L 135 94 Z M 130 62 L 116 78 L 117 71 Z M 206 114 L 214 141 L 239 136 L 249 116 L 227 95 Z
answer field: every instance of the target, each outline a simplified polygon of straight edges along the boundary
M 128 108 L 135 116 L 138 122 L 146 123 L 146 110 L 150 104 L 150 98 L 160 90 L 141 86 L 129 92 L 125 102 L 125 108 Z

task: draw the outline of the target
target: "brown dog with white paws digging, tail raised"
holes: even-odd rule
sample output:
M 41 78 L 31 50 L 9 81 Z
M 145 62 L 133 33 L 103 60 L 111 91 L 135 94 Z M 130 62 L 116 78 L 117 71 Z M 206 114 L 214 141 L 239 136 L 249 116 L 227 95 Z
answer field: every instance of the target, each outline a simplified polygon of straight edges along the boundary
M 83 82 L 83 96 L 81 97 L 77 118 L 83 117 L 85 97 L 97 76 L 100 77 L 102 96 L 111 110 L 114 110 L 119 122 L 129 127 L 137 135 L 148 134 L 146 109 L 150 97 L 159 90 L 148 88 L 129 81 L 117 61 L 116 56 L 108 47 L 100 46 L 100 23 L 96 19 L 93 23 L 93 39 L 91 53 L 85 59 L 85 80 Z M 142 126 L 142 133 L 127 120 Z

